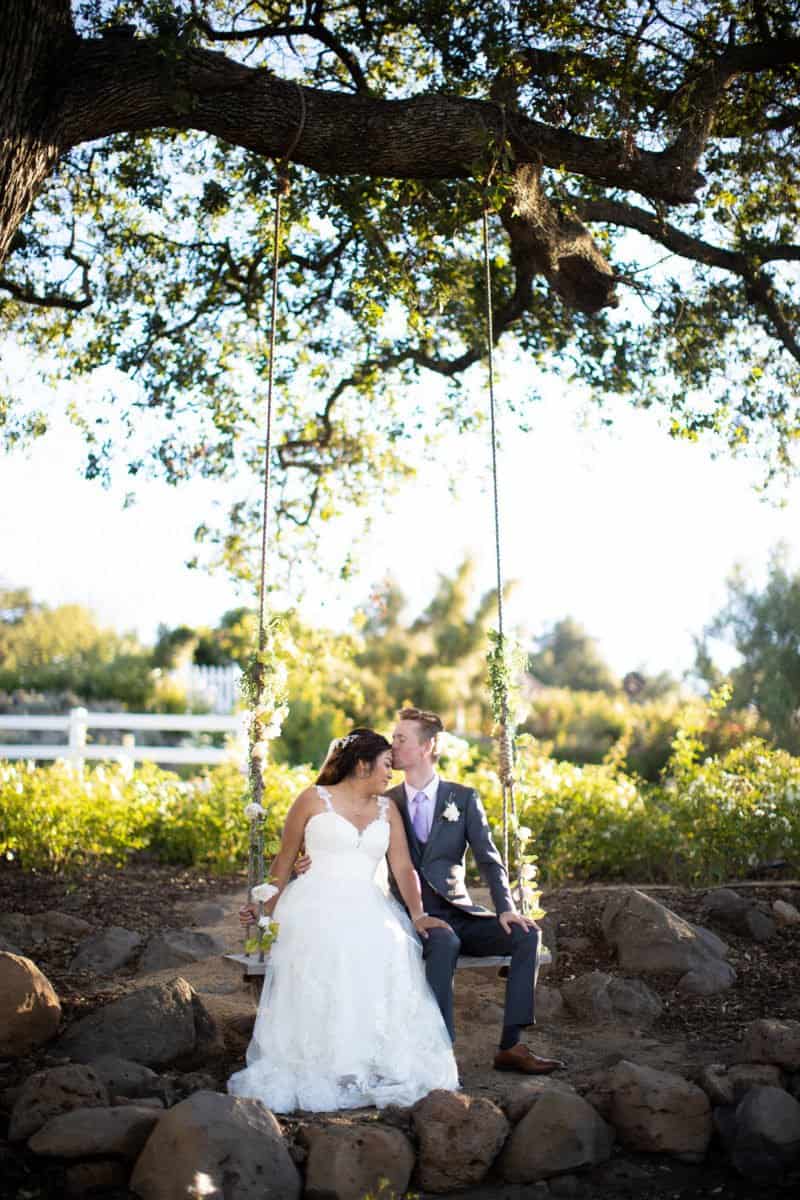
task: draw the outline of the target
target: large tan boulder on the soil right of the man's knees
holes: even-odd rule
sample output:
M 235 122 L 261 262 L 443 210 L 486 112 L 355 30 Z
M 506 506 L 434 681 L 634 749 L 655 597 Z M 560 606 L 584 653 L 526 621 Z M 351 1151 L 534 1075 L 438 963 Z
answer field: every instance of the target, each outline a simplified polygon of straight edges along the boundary
M 692 925 L 637 888 L 621 888 L 602 914 L 606 941 L 624 971 L 685 974 L 718 964 L 727 946 L 715 934 Z

